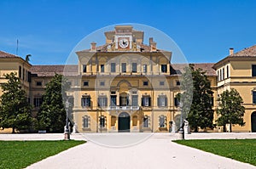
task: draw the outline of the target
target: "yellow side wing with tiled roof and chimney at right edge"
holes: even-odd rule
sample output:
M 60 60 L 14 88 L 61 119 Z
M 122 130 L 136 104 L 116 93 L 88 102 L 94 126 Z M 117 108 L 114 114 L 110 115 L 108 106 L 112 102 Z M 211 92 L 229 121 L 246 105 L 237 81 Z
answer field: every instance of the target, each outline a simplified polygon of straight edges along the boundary
M 214 65 L 217 71 L 218 96 L 224 90 L 235 88 L 245 107 L 244 127 L 233 125 L 233 132 L 256 132 L 256 45 L 230 55 Z

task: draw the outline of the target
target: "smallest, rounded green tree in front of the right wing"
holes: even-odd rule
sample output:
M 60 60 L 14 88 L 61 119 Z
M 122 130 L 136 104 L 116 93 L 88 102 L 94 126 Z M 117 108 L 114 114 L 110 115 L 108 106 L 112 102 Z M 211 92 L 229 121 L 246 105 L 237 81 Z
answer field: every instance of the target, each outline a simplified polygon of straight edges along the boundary
M 242 106 L 242 99 L 240 94 L 235 88 L 231 90 L 226 90 L 220 94 L 218 98 L 217 114 L 219 115 L 217 124 L 218 126 L 224 126 L 224 131 L 226 131 L 226 124 L 230 124 L 230 132 L 232 131 L 232 124 L 238 124 L 244 126 L 243 115 L 245 113 L 245 108 Z

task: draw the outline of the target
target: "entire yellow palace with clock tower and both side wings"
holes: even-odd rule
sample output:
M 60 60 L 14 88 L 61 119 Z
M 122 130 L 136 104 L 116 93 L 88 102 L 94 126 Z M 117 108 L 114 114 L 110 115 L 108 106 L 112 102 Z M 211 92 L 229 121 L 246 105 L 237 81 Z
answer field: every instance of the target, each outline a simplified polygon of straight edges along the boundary
M 171 64 L 172 51 L 157 48 L 152 37 L 130 25 L 105 32 L 106 43 L 77 51 L 78 65 L 30 65 L 14 54 L 0 51 L 0 84 L 4 74 L 17 72 L 36 115 L 47 82 L 67 77 L 76 132 L 173 132 L 180 125 L 177 94 L 184 65 Z M 213 110 L 226 89 L 236 88 L 246 108 L 246 125 L 233 132 L 256 132 L 256 46 L 245 48 L 217 63 L 194 64 L 207 72 L 213 92 Z M 2 91 L 0 92 L 2 94 Z M 214 119 L 217 119 L 215 112 Z M 214 121 L 215 122 L 215 121 Z M 221 132 L 216 127 L 212 132 Z

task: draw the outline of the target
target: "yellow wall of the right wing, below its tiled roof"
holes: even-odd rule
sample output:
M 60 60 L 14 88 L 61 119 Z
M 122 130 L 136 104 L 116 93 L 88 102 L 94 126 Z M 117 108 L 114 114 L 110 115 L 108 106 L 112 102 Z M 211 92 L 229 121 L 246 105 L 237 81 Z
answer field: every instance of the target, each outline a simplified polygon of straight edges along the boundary
M 217 72 L 224 69 L 224 78 L 218 75 L 218 95 L 225 90 L 235 88 L 240 93 L 243 106 L 246 109 L 244 114 L 245 126 L 233 125 L 233 132 L 252 132 L 251 115 L 256 110 L 256 105 L 253 104 L 253 89 L 256 85 L 256 78 L 252 76 L 252 65 L 256 65 L 256 60 L 232 59 L 217 68 Z M 227 76 L 227 67 L 230 76 Z

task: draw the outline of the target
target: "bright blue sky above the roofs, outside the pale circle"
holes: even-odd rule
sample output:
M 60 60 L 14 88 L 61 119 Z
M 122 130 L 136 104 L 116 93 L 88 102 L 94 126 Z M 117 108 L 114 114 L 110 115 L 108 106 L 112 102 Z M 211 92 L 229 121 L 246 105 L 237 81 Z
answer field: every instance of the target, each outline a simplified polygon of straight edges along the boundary
M 255 8 L 254 0 L 1 0 L 0 50 L 16 54 L 19 39 L 18 55 L 32 54 L 32 65 L 62 65 L 91 32 L 138 23 L 165 32 L 190 63 L 217 62 L 256 43 Z

